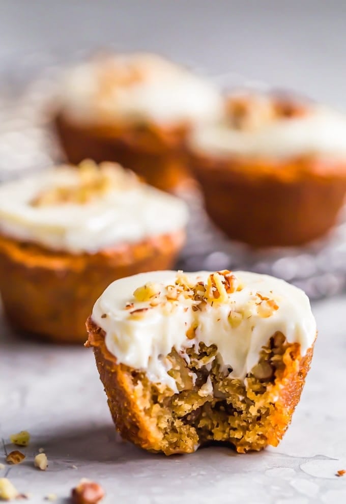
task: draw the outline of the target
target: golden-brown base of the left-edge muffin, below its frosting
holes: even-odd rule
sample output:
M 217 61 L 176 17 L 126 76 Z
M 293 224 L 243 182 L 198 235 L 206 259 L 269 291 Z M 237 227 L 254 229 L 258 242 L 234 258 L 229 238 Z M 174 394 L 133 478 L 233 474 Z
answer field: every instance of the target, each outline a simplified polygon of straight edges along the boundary
M 179 231 L 96 254 L 55 252 L 0 236 L 0 292 L 14 328 L 59 343 L 84 343 L 85 320 L 114 280 L 169 269 L 185 238 Z

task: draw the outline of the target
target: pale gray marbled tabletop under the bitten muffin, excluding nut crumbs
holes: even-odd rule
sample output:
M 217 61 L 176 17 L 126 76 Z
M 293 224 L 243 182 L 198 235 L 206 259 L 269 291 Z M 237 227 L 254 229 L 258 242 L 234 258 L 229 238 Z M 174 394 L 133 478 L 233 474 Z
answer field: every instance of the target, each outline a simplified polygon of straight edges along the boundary
M 277 448 L 237 455 L 209 447 L 193 455 L 148 454 L 115 434 L 93 354 L 83 347 L 20 339 L 2 323 L 0 434 L 31 433 L 23 463 L 6 465 L 30 504 L 50 493 L 67 503 L 83 477 L 106 491 L 104 504 L 338 504 L 346 501 L 344 314 L 346 297 L 313 304 L 319 327 L 312 369 L 293 423 Z M 34 468 L 45 449 L 49 466 Z M 4 453 L 0 462 L 4 462 Z

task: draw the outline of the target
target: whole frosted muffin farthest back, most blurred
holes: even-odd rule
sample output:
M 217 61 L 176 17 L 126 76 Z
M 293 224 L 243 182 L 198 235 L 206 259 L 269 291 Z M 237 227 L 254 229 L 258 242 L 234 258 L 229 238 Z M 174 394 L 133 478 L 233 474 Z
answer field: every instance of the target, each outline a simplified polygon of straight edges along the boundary
M 187 133 L 223 106 L 211 83 L 156 55 L 103 55 L 66 73 L 55 124 L 70 162 L 118 161 L 173 190 L 190 179 Z

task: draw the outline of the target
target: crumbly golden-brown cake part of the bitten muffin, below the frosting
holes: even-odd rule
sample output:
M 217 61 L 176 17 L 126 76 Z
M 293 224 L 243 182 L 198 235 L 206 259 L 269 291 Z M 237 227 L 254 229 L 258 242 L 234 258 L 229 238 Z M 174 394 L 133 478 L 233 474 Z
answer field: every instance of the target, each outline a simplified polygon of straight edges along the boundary
M 187 363 L 173 350 L 170 373 L 180 389 L 174 394 L 149 382 L 145 373 L 117 363 L 105 346 L 104 331 L 91 318 L 86 326 L 89 340 L 85 345 L 94 347 L 117 430 L 143 449 L 165 455 L 192 453 L 212 440 L 226 442 L 239 453 L 276 446 L 291 423 L 313 353 L 310 348 L 301 357 L 299 344 L 288 344 L 281 333 L 275 333 L 259 360 L 259 371 L 267 370 L 268 375 L 272 369 L 271 376 L 261 379 L 258 369 L 253 370 L 245 385 L 224 377 L 216 361 L 211 372 L 200 366 L 215 348 L 199 347 L 199 355 L 192 354 L 190 363 L 197 376 L 193 385 Z M 212 377 L 211 396 L 201 386 L 207 375 Z

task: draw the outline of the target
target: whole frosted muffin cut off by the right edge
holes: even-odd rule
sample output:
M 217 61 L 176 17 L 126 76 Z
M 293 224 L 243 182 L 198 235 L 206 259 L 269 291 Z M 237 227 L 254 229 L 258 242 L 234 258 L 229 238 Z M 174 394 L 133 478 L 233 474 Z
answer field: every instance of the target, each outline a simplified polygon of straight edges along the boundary
M 230 238 L 300 245 L 335 224 L 346 193 L 346 118 L 274 94 L 235 94 L 191 136 L 207 211 Z

